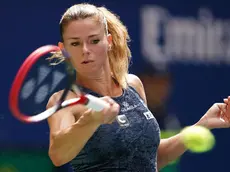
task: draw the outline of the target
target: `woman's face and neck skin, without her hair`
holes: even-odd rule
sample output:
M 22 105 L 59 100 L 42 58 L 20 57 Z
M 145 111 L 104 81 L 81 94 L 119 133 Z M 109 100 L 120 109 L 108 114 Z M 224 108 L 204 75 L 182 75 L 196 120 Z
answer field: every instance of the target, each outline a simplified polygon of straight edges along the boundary
M 112 36 L 105 35 L 102 24 L 92 19 L 73 21 L 65 28 L 63 39 L 62 46 L 72 57 L 71 63 L 77 70 L 80 85 L 102 95 L 122 94 L 122 89 L 117 88 L 111 78 L 107 56 L 109 47 L 112 46 Z M 82 64 L 87 60 L 92 62 Z

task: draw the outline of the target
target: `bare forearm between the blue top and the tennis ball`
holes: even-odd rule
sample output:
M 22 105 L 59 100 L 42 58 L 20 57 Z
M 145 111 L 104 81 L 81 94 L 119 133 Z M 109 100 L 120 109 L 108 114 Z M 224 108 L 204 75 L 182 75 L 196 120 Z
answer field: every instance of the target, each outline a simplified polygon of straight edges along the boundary
M 181 134 L 177 134 L 167 139 L 161 139 L 157 157 L 159 169 L 177 159 L 187 150 L 180 137 Z

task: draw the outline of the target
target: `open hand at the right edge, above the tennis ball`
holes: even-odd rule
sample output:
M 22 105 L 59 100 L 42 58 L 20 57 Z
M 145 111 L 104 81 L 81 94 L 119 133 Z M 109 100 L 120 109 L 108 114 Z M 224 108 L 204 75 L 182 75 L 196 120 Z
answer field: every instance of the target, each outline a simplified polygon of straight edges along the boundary
M 230 127 L 230 96 L 224 99 L 224 103 L 215 103 L 196 125 L 202 125 L 209 129 Z

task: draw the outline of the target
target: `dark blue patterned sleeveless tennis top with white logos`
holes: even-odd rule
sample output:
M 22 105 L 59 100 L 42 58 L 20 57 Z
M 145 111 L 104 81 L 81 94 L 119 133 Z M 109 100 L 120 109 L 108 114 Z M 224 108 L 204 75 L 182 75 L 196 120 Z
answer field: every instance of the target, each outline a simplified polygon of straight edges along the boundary
M 83 91 L 100 97 L 86 88 Z M 118 121 L 103 124 L 70 162 L 74 172 L 156 172 L 159 125 L 136 90 L 128 87 L 120 97 Z

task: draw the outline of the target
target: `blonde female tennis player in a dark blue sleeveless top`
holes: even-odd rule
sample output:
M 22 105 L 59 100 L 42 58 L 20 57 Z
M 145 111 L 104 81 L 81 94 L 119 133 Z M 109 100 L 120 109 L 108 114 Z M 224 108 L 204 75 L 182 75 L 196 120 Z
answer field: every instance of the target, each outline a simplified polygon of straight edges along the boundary
M 70 162 L 78 172 L 156 172 L 181 156 L 186 149 L 180 134 L 160 140 L 160 129 L 147 108 L 142 82 L 128 74 L 129 35 L 118 17 L 104 7 L 77 4 L 64 13 L 60 30 L 59 47 L 78 73 L 76 82 L 85 93 L 102 97 L 109 107 L 95 112 L 75 105 L 48 118 L 53 164 Z M 61 92 L 51 96 L 47 108 L 56 103 Z M 74 97 L 69 92 L 67 98 Z M 227 98 L 214 104 L 195 125 L 229 127 L 229 101 Z M 114 120 L 116 117 L 125 127 Z

